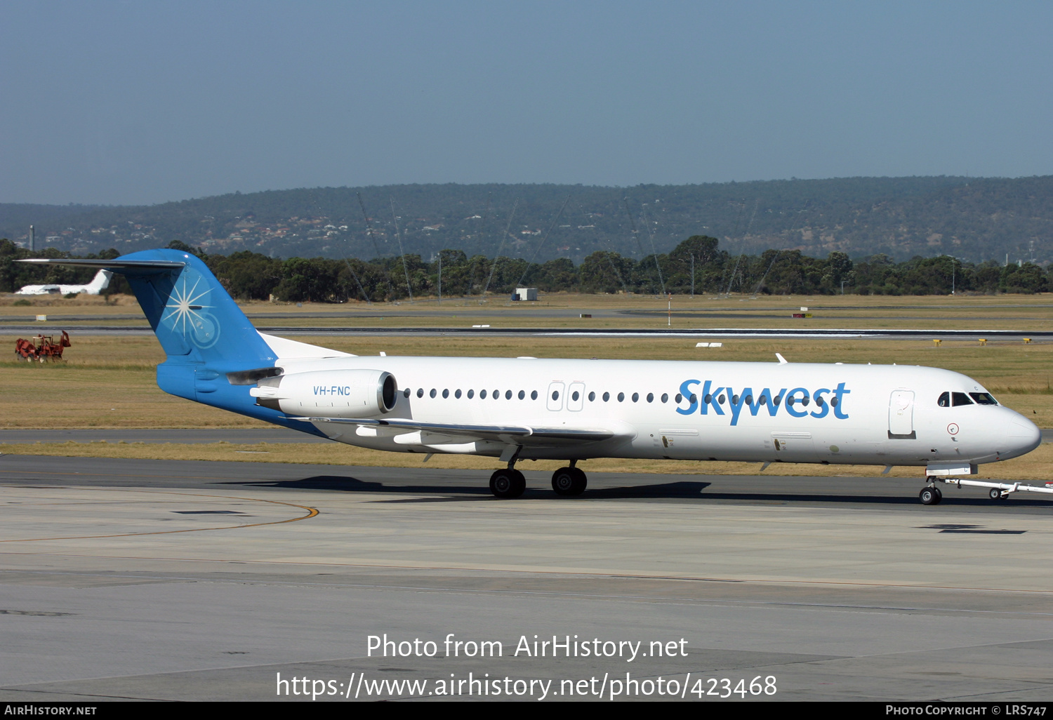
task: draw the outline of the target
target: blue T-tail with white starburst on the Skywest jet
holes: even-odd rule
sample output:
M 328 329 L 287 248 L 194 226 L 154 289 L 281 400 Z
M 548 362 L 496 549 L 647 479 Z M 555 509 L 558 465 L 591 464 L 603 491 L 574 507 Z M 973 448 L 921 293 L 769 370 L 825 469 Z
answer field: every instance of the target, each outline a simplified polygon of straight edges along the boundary
M 165 393 L 296 429 L 306 423 L 256 404 L 249 389 L 277 374 L 278 354 L 223 289 L 208 267 L 191 253 L 152 249 L 116 260 L 33 259 L 22 262 L 96 267 L 127 279 L 167 356 L 157 366 Z

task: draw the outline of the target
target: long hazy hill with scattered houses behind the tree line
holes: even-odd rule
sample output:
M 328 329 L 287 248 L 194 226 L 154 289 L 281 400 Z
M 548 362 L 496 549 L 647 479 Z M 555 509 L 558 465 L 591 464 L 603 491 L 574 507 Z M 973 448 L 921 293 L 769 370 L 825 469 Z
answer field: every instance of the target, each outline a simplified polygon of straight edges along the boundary
M 364 211 L 364 212 L 363 212 Z M 1053 176 L 838 178 L 598 187 L 435 184 L 318 187 L 150 206 L 0 204 L 0 237 L 37 247 L 125 254 L 178 240 L 210 255 L 272 259 L 466 256 L 528 262 L 594 253 L 640 261 L 684 238 L 734 255 L 768 248 L 892 262 L 949 255 L 967 262 L 1053 259 Z

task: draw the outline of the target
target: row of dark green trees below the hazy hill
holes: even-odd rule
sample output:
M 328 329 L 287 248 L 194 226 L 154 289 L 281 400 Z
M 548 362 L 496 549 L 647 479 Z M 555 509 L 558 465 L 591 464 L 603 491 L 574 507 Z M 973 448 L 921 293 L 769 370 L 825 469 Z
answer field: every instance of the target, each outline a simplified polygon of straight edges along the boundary
M 599 251 L 575 265 L 568 258 L 532 263 L 522 258 L 468 256 L 443 249 L 425 261 L 420 255 L 364 261 L 354 258 L 271 258 L 251 251 L 210 255 L 181 241 L 168 247 L 198 255 L 227 292 L 239 300 L 287 302 L 388 302 L 412 297 L 511 295 L 518 286 L 544 293 L 635 293 L 702 295 L 948 295 L 956 293 L 1044 293 L 1048 271 L 1029 263 L 963 262 L 950 256 L 915 257 L 894 262 L 886 255 L 853 261 L 841 252 L 826 259 L 799 249 L 767 249 L 759 255 L 731 254 L 716 238 L 695 235 L 671 253 L 640 260 Z M 91 269 L 35 266 L 15 262 L 28 251 L 0 240 L 0 291 L 15 292 L 37 283 L 81 283 Z M 34 257 L 67 257 L 47 248 Z M 97 255 L 119 257 L 115 249 Z M 440 287 L 441 283 L 441 287 Z M 106 294 L 127 293 L 115 276 Z

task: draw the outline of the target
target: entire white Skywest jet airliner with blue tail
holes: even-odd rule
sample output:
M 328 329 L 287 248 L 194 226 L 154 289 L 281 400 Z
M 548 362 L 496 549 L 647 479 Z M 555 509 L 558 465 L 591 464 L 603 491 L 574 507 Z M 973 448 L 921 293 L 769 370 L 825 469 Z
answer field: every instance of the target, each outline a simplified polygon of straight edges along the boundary
M 914 465 L 955 479 L 1041 442 L 1030 420 L 958 373 L 908 365 L 537 358 L 360 357 L 262 335 L 191 254 L 23 260 L 123 273 L 167 354 L 161 389 L 188 400 L 396 453 L 493 457 L 499 498 L 522 494 L 520 460 L 565 460 L 558 495 L 579 495 L 590 458 Z M 424 458 L 428 459 L 426 457 Z

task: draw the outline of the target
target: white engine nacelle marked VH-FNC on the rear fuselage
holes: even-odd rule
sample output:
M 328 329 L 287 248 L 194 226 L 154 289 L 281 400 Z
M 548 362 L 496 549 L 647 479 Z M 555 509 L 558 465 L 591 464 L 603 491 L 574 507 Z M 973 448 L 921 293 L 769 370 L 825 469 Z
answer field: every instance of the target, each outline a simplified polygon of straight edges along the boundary
M 316 371 L 262 378 L 249 394 L 286 415 L 367 418 L 395 408 L 398 383 L 383 371 Z

